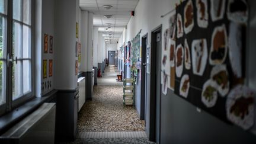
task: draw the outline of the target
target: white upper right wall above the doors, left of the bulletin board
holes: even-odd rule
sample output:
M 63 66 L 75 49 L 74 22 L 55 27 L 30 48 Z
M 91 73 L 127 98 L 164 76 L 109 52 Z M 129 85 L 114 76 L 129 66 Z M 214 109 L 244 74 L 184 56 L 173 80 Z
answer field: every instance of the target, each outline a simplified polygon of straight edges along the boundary
M 132 40 L 133 37 L 139 33 L 139 30 L 142 29 L 140 37 L 148 33 L 148 44 L 151 46 L 151 31 L 161 24 L 162 30 L 168 28 L 169 15 L 164 18 L 161 18 L 161 15 L 164 15 L 175 8 L 175 3 L 177 2 L 180 1 L 140 0 L 135 9 L 135 16 L 130 18 L 129 23 L 127 24 L 127 30 L 124 29 L 123 37 L 120 37 L 122 39 L 120 39 L 121 41 L 119 41 L 119 44 L 123 44 L 123 42 L 127 43 L 127 41 Z

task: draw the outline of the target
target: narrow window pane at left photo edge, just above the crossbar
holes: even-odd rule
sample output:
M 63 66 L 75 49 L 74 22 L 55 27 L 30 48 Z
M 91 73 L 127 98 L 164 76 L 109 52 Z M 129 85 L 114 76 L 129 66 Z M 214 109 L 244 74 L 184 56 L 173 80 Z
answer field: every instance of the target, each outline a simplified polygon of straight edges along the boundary
M 6 49 L 6 43 L 5 43 L 5 36 L 6 36 L 6 19 L 4 17 L 0 16 L 0 58 L 5 56 L 5 49 Z

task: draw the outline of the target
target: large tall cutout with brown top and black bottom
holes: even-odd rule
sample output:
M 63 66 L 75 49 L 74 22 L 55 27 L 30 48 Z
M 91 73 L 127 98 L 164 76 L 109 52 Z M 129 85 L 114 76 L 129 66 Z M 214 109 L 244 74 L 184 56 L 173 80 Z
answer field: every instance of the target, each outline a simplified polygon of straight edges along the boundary
M 216 27 L 212 35 L 212 46 L 210 49 L 209 62 L 211 65 L 222 64 L 226 59 L 228 52 L 228 40 L 226 34 L 226 27 L 223 24 Z

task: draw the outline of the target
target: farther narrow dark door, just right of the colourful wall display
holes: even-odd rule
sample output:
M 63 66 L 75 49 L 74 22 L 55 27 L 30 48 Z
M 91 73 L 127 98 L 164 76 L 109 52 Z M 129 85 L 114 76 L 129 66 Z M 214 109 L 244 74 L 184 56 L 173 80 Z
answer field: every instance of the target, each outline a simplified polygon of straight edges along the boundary
M 142 69 L 141 69 L 141 91 L 140 91 L 140 120 L 146 119 L 146 48 L 148 39 L 148 33 L 142 36 Z M 144 63 L 144 64 L 143 64 Z M 146 121 L 146 120 L 145 120 Z M 146 124 L 146 123 L 145 123 Z

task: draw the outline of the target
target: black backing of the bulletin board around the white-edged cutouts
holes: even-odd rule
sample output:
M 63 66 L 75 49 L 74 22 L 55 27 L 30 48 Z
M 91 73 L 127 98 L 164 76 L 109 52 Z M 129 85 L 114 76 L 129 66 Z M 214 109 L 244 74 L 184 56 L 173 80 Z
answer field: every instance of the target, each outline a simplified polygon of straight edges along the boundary
M 183 30 L 184 30 L 184 8 L 188 1 L 182 2 L 180 5 L 176 8 L 176 15 L 181 14 L 182 20 L 183 20 Z M 227 11 L 227 5 L 228 1 L 225 2 L 225 12 L 224 16 L 221 20 L 212 21 L 212 17 L 210 14 L 211 9 L 211 1 L 207 1 L 207 13 L 208 13 L 208 26 L 206 28 L 199 27 L 199 24 L 197 23 L 197 7 L 196 7 L 196 1 L 192 1 L 193 3 L 193 21 L 194 21 L 194 27 L 190 31 L 190 33 L 183 33 L 183 37 L 178 38 L 176 34 L 176 46 L 179 44 L 182 44 L 184 47 L 184 41 L 187 39 L 188 47 L 190 49 L 190 57 L 191 57 L 191 68 L 185 69 L 183 68 L 183 73 L 181 77 L 177 77 L 175 75 L 175 94 L 180 95 L 180 84 L 181 84 L 181 78 L 183 75 L 187 74 L 190 78 L 190 87 L 188 90 L 187 98 L 180 95 L 181 98 L 184 98 L 185 100 L 189 101 L 191 104 L 196 105 L 196 107 L 202 108 L 203 110 L 213 114 L 214 116 L 218 117 L 221 120 L 224 120 L 228 122 L 228 119 L 226 118 L 226 99 L 227 97 L 220 96 L 219 92 L 217 92 L 217 101 L 216 104 L 213 107 L 206 107 L 201 101 L 201 92 L 203 89 L 204 83 L 210 79 L 210 73 L 214 67 L 214 65 L 210 65 L 209 63 L 209 53 L 210 53 L 210 47 L 212 44 L 212 34 L 216 27 L 225 24 L 226 27 L 226 34 L 229 37 L 229 24 L 231 21 L 228 19 L 228 16 L 226 14 Z M 177 25 L 178 27 L 178 25 Z M 176 28 L 176 31 L 178 28 Z M 234 75 L 232 68 L 231 68 L 231 62 L 229 60 L 229 52 L 226 54 L 226 59 L 223 62 L 223 65 L 226 65 L 227 71 L 228 71 L 228 80 L 229 80 L 229 91 L 235 87 L 237 84 L 243 84 L 244 78 L 245 78 L 245 31 L 246 26 L 242 25 L 241 33 L 242 33 L 242 78 L 236 78 Z M 192 63 L 192 42 L 193 40 L 197 39 L 206 39 L 207 41 L 207 63 L 206 68 L 203 72 L 203 75 L 195 75 L 193 73 L 193 63 Z M 231 41 L 229 41 L 231 42 Z M 228 49 L 229 50 L 229 49 Z M 228 94 L 227 94 L 228 95 Z

